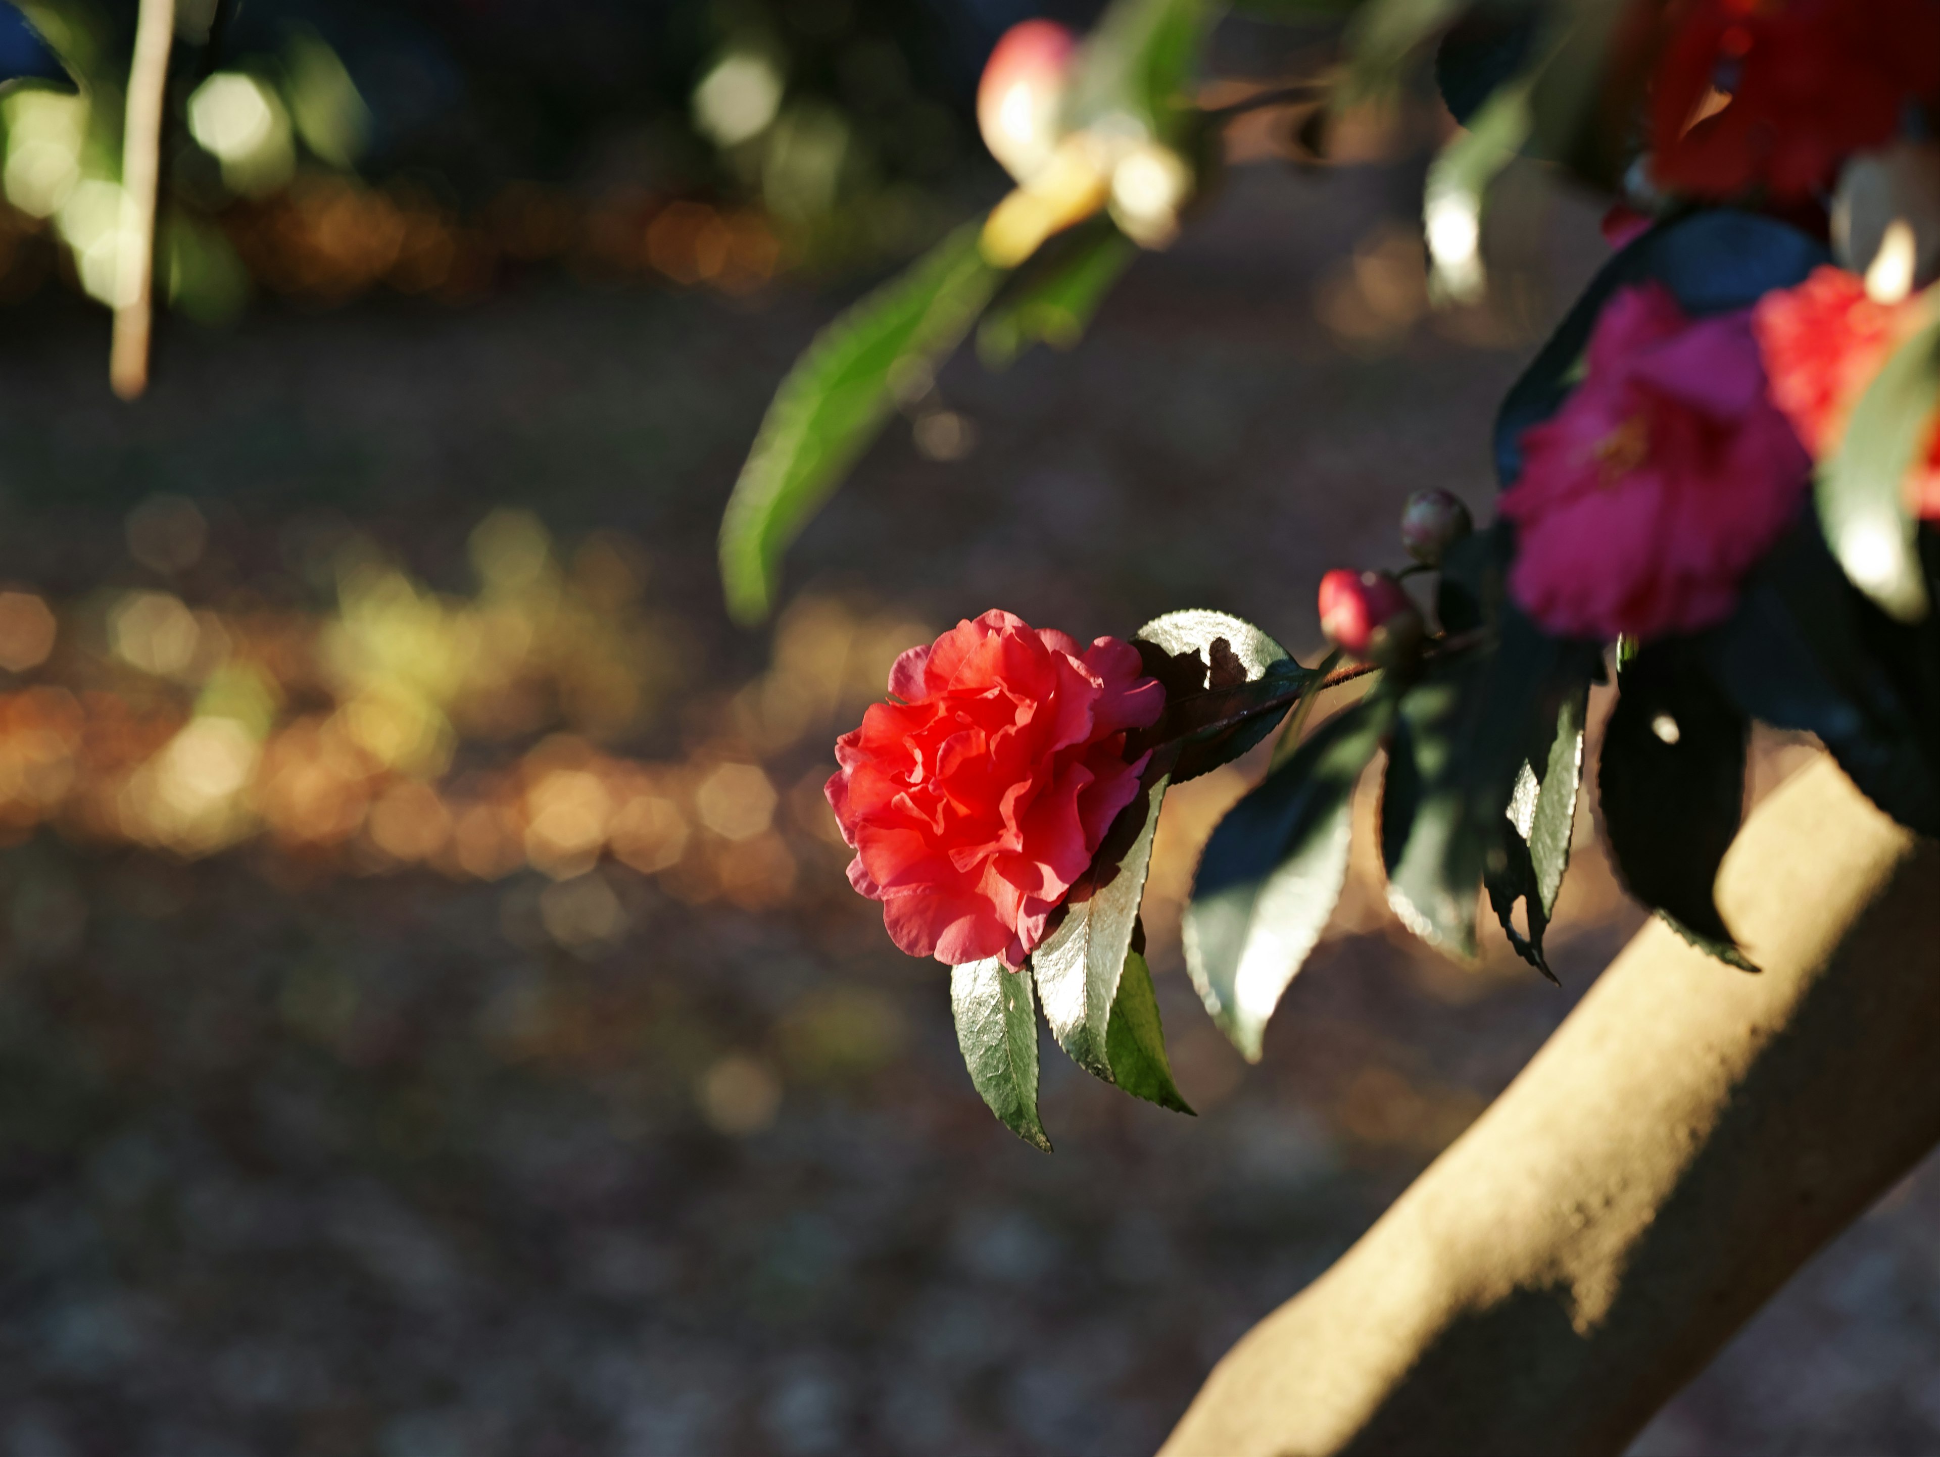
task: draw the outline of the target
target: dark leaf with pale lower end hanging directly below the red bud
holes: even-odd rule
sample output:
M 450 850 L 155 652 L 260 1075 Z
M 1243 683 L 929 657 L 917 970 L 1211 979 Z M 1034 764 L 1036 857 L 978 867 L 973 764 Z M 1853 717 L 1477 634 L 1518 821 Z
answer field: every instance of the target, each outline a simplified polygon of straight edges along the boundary
M 1436 662 L 1401 704 L 1381 792 L 1387 902 L 1453 956 L 1474 956 L 1482 875 L 1538 726 L 1589 681 L 1581 644 L 1504 609 L 1494 646 Z

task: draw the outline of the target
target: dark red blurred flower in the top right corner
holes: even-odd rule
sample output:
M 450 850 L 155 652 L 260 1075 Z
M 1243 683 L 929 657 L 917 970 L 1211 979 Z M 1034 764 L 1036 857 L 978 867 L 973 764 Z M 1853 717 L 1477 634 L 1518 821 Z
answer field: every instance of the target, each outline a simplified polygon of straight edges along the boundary
M 1661 186 L 1794 200 L 1940 93 L 1940 0 L 1682 0 L 1651 97 Z

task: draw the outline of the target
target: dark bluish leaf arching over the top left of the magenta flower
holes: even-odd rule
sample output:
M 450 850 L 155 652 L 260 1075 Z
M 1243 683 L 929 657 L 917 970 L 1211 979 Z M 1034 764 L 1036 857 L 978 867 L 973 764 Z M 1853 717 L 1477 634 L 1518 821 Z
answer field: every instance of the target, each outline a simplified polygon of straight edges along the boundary
M 1748 308 L 1771 289 L 1791 287 L 1831 254 L 1789 223 L 1711 208 L 1659 223 L 1602 266 L 1564 322 L 1509 390 L 1496 415 L 1496 473 L 1523 473 L 1523 431 L 1569 398 L 1575 371 L 1610 295 L 1657 279 L 1694 316 Z

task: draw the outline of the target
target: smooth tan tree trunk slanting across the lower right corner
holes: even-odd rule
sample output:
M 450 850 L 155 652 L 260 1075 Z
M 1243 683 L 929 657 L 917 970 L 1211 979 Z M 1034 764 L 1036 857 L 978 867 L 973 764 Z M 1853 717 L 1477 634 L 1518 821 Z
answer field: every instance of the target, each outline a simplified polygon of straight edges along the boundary
M 1763 974 L 1645 927 L 1162 1457 L 1618 1453 L 1940 1141 L 1940 844 L 1824 761 L 1719 904 Z

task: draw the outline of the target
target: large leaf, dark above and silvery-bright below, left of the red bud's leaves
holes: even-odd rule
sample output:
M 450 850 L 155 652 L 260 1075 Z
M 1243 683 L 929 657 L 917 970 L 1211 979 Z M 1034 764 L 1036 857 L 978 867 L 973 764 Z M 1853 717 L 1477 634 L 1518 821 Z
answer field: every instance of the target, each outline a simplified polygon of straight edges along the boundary
M 1391 700 L 1375 696 L 1321 724 L 1232 807 L 1199 859 L 1185 966 L 1247 1061 L 1341 898 L 1354 784 L 1391 722 Z

